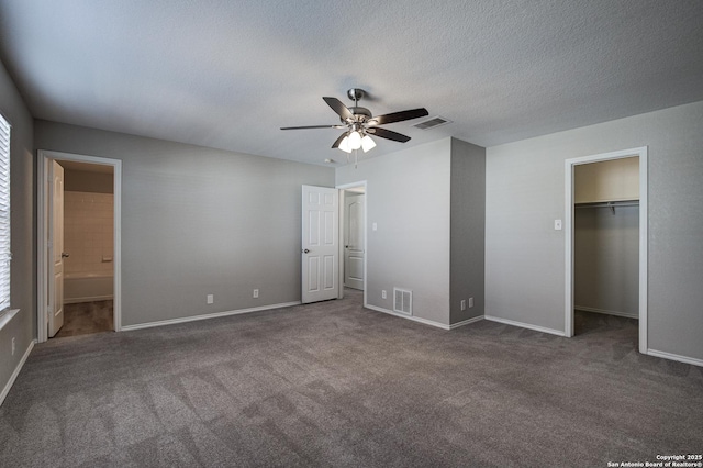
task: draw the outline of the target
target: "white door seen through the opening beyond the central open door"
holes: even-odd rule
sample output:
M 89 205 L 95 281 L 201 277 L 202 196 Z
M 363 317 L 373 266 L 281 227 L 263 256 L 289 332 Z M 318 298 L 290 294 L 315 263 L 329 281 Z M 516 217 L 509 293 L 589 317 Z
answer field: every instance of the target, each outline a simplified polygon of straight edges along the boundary
M 366 197 L 350 194 L 345 198 L 344 223 L 344 286 L 364 290 L 364 209 Z

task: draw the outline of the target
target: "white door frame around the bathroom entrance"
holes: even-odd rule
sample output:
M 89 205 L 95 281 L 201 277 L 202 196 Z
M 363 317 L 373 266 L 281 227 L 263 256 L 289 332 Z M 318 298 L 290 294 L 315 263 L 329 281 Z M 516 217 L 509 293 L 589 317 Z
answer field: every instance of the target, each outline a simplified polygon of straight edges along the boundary
M 112 166 L 114 185 L 114 300 L 113 321 L 114 331 L 122 330 L 122 161 L 97 156 L 85 156 L 70 153 L 59 153 L 46 149 L 37 151 L 36 170 L 36 341 L 47 339 L 46 305 L 48 304 L 48 164 L 54 159 L 77 163 L 100 164 Z

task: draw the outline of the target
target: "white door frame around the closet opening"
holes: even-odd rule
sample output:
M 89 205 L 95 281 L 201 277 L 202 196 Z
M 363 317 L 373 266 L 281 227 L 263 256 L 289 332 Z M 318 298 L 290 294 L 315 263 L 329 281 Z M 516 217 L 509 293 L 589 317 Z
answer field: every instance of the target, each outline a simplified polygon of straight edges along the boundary
M 639 157 L 639 353 L 647 354 L 647 146 L 632 149 L 623 149 L 612 153 L 603 153 L 592 156 L 567 159 L 565 164 L 566 188 L 566 220 L 565 220 L 565 246 L 566 246 L 566 301 L 565 301 L 565 336 L 573 336 L 573 172 L 574 167 L 581 164 L 598 163 L 603 160 L 621 159 L 625 157 Z

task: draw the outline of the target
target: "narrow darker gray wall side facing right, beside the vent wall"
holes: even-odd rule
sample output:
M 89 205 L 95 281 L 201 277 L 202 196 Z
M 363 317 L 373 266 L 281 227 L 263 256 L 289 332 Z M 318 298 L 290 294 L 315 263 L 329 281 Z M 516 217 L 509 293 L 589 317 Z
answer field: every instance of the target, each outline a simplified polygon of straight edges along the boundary
M 486 268 L 486 148 L 456 138 L 451 140 L 450 234 L 450 323 L 455 324 L 483 315 Z M 469 298 L 473 298 L 471 309 Z

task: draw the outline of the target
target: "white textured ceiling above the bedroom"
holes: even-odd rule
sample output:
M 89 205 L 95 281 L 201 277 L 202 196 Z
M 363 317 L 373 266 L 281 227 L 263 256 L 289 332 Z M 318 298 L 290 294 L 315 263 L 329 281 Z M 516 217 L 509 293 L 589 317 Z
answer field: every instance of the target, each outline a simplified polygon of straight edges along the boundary
M 371 94 L 378 156 L 482 146 L 703 100 L 700 0 L 0 0 L 0 57 L 35 118 L 324 164 L 322 100 Z

